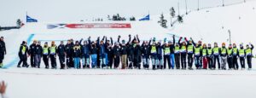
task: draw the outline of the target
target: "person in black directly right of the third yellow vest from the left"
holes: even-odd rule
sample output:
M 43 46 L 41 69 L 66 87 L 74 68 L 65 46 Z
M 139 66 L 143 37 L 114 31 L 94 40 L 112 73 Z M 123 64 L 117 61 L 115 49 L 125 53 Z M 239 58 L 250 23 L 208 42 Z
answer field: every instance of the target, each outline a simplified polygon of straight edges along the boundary
M 65 45 L 63 41 L 61 41 L 61 44 L 57 48 L 57 55 L 59 56 L 61 69 L 65 69 Z

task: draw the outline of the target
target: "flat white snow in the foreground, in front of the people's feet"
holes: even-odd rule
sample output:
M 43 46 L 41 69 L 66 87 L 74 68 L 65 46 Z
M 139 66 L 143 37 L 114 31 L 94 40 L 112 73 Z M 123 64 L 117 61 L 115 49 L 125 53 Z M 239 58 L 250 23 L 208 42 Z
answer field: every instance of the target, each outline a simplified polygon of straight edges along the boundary
M 254 98 L 255 71 L 0 70 L 10 98 Z

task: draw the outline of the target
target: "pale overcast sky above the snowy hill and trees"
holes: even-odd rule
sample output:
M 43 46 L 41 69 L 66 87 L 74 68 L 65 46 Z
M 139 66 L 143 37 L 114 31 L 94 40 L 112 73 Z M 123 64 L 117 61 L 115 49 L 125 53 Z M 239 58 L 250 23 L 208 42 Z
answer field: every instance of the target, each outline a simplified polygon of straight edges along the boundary
M 26 20 L 27 13 L 38 21 L 79 21 L 107 17 L 119 13 L 137 18 L 148 14 L 168 13 L 171 7 L 185 9 L 185 0 L 0 0 L 0 26 L 15 25 L 17 19 Z M 188 9 L 197 9 L 198 0 L 187 0 Z M 224 0 L 237 3 L 243 0 Z M 200 7 L 222 4 L 222 0 L 200 0 Z M 183 13 L 183 12 L 181 12 Z

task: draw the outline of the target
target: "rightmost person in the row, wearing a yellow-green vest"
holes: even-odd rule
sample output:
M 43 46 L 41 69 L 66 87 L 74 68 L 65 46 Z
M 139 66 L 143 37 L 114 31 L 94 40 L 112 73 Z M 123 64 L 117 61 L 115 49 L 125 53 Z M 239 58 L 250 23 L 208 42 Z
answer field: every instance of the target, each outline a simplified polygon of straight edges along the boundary
M 247 55 L 246 57 L 247 57 L 248 70 L 252 70 L 253 48 L 254 48 L 253 44 L 249 43 L 247 44 L 247 49 L 245 50 Z

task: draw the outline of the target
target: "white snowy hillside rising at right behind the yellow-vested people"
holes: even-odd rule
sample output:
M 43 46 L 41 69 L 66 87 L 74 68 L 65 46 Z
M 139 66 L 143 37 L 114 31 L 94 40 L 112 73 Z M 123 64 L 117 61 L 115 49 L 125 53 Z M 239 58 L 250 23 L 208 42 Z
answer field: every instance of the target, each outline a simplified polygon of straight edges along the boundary
M 232 43 L 253 43 L 256 32 L 256 2 L 236 4 L 214 9 L 192 11 L 185 15 L 183 24 L 170 31 L 184 37 L 194 37 L 203 43 L 228 43 L 229 30 Z

